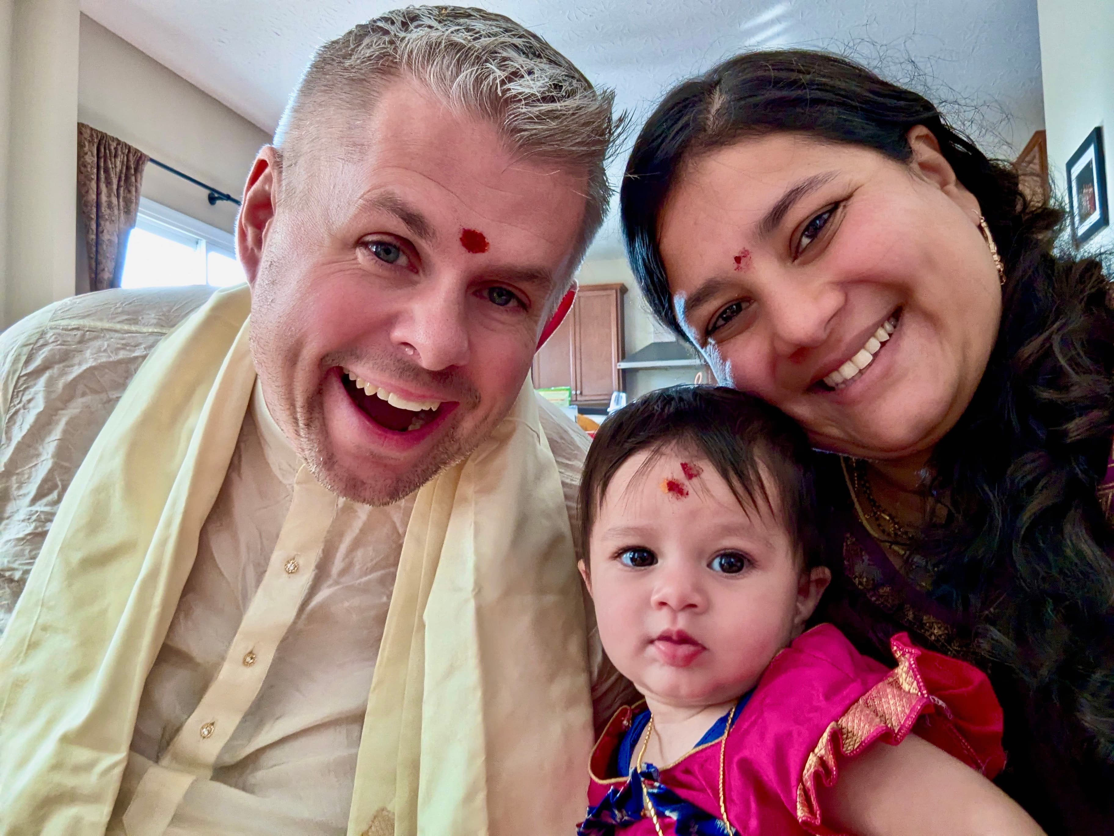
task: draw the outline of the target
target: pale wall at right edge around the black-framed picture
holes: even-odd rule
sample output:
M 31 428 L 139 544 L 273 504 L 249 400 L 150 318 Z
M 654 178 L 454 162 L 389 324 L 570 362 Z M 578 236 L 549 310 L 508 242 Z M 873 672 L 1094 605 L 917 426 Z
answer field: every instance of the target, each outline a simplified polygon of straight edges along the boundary
M 1068 158 L 1096 125 L 1103 127 L 1106 186 L 1114 186 L 1114 0 L 1037 0 L 1044 77 L 1048 172 L 1066 195 Z M 1114 202 L 1107 197 L 1114 210 Z M 1106 227 L 1086 249 L 1114 247 Z

